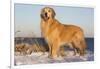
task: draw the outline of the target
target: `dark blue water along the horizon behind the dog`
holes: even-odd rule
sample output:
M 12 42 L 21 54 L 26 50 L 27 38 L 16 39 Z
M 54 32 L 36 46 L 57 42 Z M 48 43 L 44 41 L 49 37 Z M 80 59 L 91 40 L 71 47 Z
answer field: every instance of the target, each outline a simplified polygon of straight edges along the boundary
M 86 44 L 87 44 L 87 49 L 89 51 L 94 52 L 94 38 L 85 38 L 86 40 Z M 38 42 L 38 44 L 40 46 L 47 46 L 47 43 L 45 42 L 45 40 L 43 38 L 21 38 L 21 37 L 17 37 L 15 38 L 15 44 L 21 44 L 21 43 L 27 43 L 27 44 L 35 44 L 36 41 Z

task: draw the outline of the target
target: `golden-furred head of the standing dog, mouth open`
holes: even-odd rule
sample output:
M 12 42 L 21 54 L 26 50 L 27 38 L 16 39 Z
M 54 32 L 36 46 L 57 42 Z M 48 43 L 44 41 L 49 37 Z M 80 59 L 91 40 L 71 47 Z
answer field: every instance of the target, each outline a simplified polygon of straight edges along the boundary
M 40 16 L 43 20 L 49 20 L 55 17 L 55 11 L 53 8 L 45 7 L 41 10 Z

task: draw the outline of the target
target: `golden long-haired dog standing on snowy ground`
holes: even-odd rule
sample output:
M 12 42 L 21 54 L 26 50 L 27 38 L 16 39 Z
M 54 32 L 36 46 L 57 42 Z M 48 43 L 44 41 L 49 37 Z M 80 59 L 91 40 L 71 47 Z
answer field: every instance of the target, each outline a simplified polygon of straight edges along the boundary
M 49 57 L 61 56 L 60 48 L 64 45 L 73 48 L 74 53 L 83 56 L 87 47 L 83 30 L 75 25 L 61 24 L 55 15 L 53 8 L 41 9 L 41 35 L 49 45 Z

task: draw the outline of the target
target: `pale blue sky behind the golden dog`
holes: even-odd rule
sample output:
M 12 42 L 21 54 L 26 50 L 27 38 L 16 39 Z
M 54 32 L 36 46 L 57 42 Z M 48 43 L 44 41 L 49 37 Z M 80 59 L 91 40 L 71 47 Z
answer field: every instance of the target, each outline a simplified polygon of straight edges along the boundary
M 15 37 L 41 37 L 40 13 L 47 6 L 55 10 L 55 18 L 62 24 L 79 26 L 85 37 L 94 37 L 93 8 L 18 3 L 14 5 Z

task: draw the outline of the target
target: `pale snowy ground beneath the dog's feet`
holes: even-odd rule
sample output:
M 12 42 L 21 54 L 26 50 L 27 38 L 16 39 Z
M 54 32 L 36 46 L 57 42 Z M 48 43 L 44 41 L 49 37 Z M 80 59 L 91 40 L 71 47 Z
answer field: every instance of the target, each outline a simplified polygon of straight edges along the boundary
M 73 55 L 73 51 L 66 51 L 65 57 L 58 57 L 56 59 L 48 58 L 48 52 L 37 52 L 31 55 L 15 55 L 15 65 L 32 65 L 41 63 L 63 63 L 63 62 L 83 62 L 93 61 L 94 54 L 91 51 L 87 51 L 84 56 L 79 54 Z

